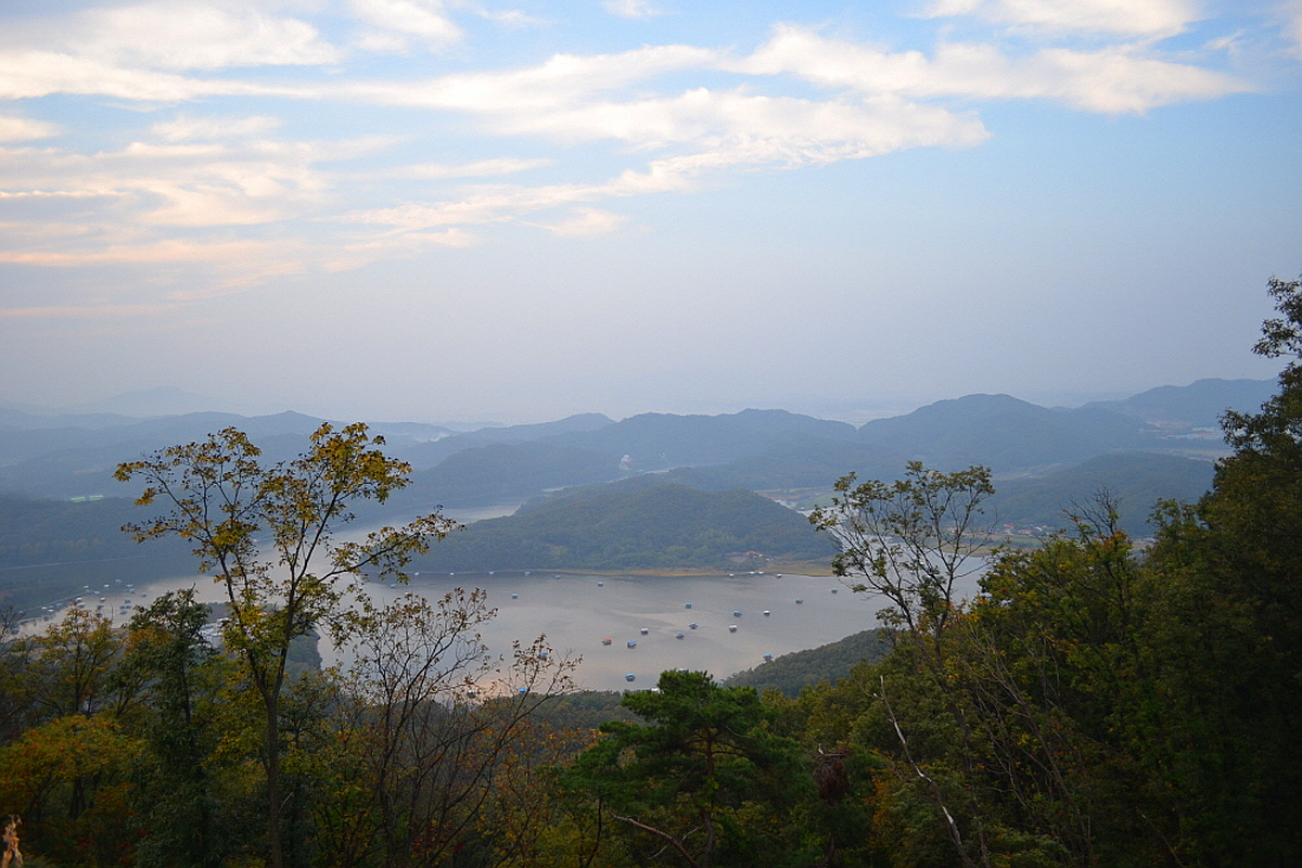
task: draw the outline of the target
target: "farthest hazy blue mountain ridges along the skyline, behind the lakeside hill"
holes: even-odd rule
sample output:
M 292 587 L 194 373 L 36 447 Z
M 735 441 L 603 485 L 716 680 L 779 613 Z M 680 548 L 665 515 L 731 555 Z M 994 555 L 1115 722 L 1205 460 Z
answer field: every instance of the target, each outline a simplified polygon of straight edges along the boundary
M 1225 407 L 1253 410 L 1271 388 L 1266 381 L 1200 380 L 1074 410 L 1006 394 L 973 394 L 859 428 L 785 410 L 745 410 L 712 416 L 647 413 L 618 422 L 578 414 L 462 433 L 421 423 L 379 423 L 375 431 L 385 436 L 387 453 L 415 468 L 411 487 L 395 497 L 395 506 L 518 502 L 644 472 L 672 474 L 676 481 L 710 491 L 786 491 L 798 497 L 796 492 L 825 491 L 850 470 L 889 476 L 909 459 L 940 470 L 980 463 L 1000 476 L 1043 476 L 1128 452 L 1207 459 L 1221 445 L 1215 433 L 1194 435 L 1194 423 Z M 1177 419 L 1191 423 L 1182 427 Z M 112 479 L 121 461 L 202 440 L 225 426 L 245 429 L 275 461 L 299 452 L 320 422 L 298 413 L 122 420 L 8 410 L 0 414 L 0 492 L 126 496 L 130 492 Z

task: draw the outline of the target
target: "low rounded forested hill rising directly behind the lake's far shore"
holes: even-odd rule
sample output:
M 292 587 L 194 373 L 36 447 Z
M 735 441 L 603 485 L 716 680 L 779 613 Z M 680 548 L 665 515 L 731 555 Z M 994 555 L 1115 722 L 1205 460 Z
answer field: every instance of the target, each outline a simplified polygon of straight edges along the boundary
M 803 515 L 753 492 L 635 480 L 475 522 L 431 547 L 411 569 L 707 566 L 750 550 L 814 560 L 831 557 L 835 547 Z

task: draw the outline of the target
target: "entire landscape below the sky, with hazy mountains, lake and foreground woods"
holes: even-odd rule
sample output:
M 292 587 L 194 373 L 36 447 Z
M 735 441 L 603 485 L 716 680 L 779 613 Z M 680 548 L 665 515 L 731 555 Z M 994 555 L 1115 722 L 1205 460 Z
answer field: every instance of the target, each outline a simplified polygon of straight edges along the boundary
M 1200 721 L 1260 700 L 1200 679 L 1282 675 L 1253 622 L 1295 593 L 1190 566 L 1275 532 L 1240 500 L 1297 484 L 1253 463 L 1276 388 L 858 428 L 7 409 L 5 798 L 38 865 L 1282 865 L 1292 832 L 1204 829 L 1271 822 L 1292 712 L 1225 778 Z

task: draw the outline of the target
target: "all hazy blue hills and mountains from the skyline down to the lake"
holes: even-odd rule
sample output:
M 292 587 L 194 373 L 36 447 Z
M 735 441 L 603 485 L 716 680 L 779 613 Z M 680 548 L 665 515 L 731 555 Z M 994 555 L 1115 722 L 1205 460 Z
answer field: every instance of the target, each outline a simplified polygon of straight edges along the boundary
M 996 496 L 988 514 L 1001 523 L 1064 527 L 1073 504 L 1105 489 L 1121 506 L 1122 526 L 1142 536 L 1159 498 L 1195 500 L 1210 484 L 1211 458 L 1225 449 L 1200 423 L 1226 407 L 1255 410 L 1271 389 L 1251 380 L 1199 381 L 1074 410 L 974 394 L 858 428 L 784 410 L 639 414 L 620 422 L 579 414 L 461 433 L 378 423 L 372 431 L 385 437 L 385 452 L 413 465 L 411 484 L 383 505 L 357 506 L 362 522 L 395 523 L 439 506 L 526 504 L 510 522 L 477 523 L 457 541 L 435 547 L 448 558 L 440 562 L 462 565 L 450 569 L 684 565 L 717 561 L 728 545 L 806 550 L 811 531 L 803 518 L 775 501 L 809 505 L 850 471 L 894 479 L 917 458 L 939 470 L 992 467 Z M 9 550 L 18 560 L 8 575 L 70 580 L 60 570 L 99 563 L 112 571 L 126 558 L 124 566 L 143 576 L 165 558 L 145 558 L 122 544 L 118 527 L 133 509 L 129 501 L 72 498 L 133 497 L 135 491 L 112 478 L 120 462 L 203 440 L 225 426 L 246 431 L 264 461 L 288 459 L 320 423 L 292 411 L 150 419 L 0 411 L 0 496 L 8 498 L 9 544 L 20 547 Z M 62 505 L 53 509 L 48 498 Z M 694 523 L 703 517 L 706 524 Z M 779 541 L 788 537 L 775 530 L 777 517 L 792 541 Z M 738 518 L 769 528 L 764 541 L 749 536 Z

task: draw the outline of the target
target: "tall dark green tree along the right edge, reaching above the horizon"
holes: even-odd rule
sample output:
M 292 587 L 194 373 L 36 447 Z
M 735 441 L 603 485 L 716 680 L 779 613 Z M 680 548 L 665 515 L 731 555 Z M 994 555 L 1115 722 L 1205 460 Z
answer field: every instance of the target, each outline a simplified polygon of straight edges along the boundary
M 1206 864 L 1284 865 L 1302 851 L 1302 280 L 1272 277 L 1280 316 L 1254 351 L 1288 358 L 1256 413 L 1226 413 L 1234 454 L 1193 508 L 1168 506 L 1148 563 L 1164 605 L 1154 656 L 1169 712 L 1151 761 Z

